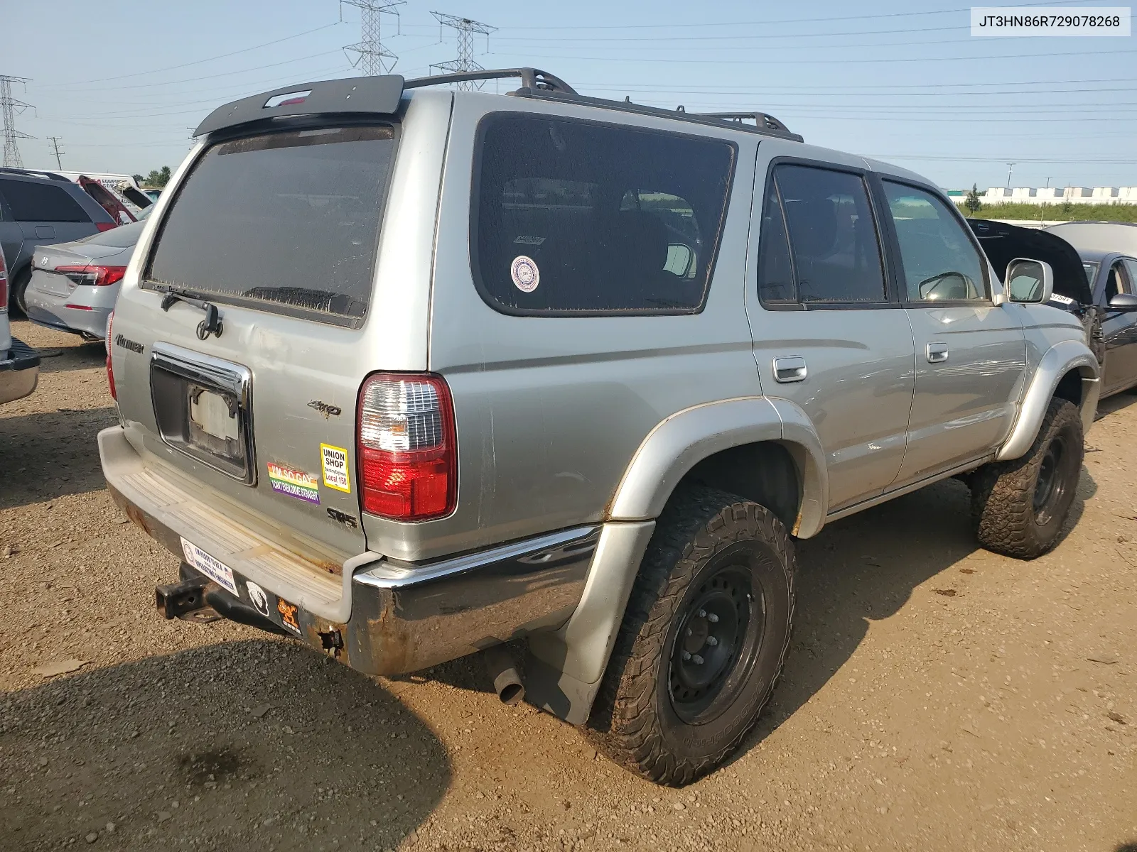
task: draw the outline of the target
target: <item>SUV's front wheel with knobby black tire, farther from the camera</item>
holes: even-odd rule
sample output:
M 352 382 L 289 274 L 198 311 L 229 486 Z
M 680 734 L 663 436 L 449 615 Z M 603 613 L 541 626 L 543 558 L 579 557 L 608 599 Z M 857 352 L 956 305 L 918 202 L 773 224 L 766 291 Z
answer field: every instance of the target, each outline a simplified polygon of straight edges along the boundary
M 1073 504 L 1084 454 L 1078 407 L 1051 400 L 1022 458 L 986 465 L 972 475 L 971 518 L 979 543 L 1015 559 L 1049 551 Z

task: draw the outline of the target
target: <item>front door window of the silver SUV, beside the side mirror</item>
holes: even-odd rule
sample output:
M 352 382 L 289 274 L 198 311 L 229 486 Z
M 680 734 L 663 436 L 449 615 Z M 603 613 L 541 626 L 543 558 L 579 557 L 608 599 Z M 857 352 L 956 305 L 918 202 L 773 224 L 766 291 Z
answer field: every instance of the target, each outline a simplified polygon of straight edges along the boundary
M 986 300 L 982 258 L 947 206 L 930 192 L 883 183 L 908 301 Z

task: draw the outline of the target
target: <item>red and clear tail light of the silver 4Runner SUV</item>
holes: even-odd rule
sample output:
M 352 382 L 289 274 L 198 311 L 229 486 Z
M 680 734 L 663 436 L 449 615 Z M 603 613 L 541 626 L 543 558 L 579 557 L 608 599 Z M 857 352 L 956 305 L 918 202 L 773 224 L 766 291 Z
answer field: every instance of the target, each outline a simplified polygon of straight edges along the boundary
M 368 376 L 356 434 L 365 512 L 426 520 L 454 511 L 458 448 L 450 389 L 440 376 Z

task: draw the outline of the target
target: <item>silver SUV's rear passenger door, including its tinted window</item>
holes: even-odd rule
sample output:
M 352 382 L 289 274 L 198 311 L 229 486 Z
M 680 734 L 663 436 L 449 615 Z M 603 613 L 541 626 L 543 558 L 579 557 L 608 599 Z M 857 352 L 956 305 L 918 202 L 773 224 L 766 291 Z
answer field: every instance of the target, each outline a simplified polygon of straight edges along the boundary
M 760 174 L 781 148 L 762 142 Z M 912 332 L 888 284 L 864 170 L 852 158 L 772 159 L 752 226 L 754 356 L 763 393 L 791 401 L 813 424 L 836 511 L 881 494 L 901 468 Z

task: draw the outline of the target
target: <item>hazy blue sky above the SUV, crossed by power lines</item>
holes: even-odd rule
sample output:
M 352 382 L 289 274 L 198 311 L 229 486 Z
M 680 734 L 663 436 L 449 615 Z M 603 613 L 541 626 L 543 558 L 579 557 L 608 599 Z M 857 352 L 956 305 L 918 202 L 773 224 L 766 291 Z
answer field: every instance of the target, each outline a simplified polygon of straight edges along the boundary
M 48 136 L 63 137 L 65 169 L 173 167 L 214 107 L 358 73 L 341 48 L 359 41 L 359 12 L 337 0 L 19 8 L 5 15 L 0 74 L 32 78 L 15 91 L 35 105 L 16 118 L 36 136 L 19 143 L 30 167 L 55 166 Z M 396 72 L 456 56 L 432 10 L 498 27 L 476 42 L 485 67 L 534 65 L 653 106 L 761 109 L 945 187 L 1002 186 L 1012 160 L 1018 186 L 1137 185 L 1137 36 L 974 39 L 960 0 L 408 0 L 382 22 Z

